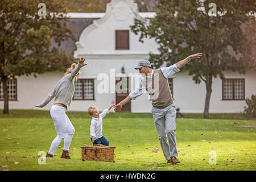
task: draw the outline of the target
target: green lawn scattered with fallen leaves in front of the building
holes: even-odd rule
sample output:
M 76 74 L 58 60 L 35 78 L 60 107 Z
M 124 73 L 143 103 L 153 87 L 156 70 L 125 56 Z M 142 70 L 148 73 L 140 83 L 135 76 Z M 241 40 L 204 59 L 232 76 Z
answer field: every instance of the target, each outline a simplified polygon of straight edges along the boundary
M 90 142 L 90 119 L 72 118 L 75 135 L 71 160 L 54 158 L 38 164 L 38 152 L 49 150 L 56 137 L 51 118 L 0 118 L 0 170 L 255 170 L 255 120 L 176 119 L 181 163 L 167 164 L 152 118 L 104 118 L 103 134 L 115 146 L 115 163 L 82 162 L 81 148 Z M 234 124 L 236 122 L 237 124 Z M 63 142 L 60 144 L 63 147 Z M 159 148 L 158 153 L 152 153 Z M 217 164 L 209 164 L 209 152 Z

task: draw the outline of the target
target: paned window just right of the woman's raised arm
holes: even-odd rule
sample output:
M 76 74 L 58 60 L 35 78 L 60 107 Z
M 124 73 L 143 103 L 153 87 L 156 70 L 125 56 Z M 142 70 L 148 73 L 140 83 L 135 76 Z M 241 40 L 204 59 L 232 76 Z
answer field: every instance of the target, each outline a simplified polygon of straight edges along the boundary
M 75 82 L 75 93 L 73 100 L 94 100 L 94 80 L 77 80 Z

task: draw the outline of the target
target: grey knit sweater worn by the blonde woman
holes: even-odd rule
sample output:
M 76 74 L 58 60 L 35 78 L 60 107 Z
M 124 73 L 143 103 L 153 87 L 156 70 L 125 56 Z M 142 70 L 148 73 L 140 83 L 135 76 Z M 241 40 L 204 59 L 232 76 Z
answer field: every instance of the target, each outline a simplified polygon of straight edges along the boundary
M 36 107 L 46 106 L 53 97 L 55 97 L 54 104 L 60 103 L 64 104 L 65 106 L 69 106 L 75 92 L 74 78 L 76 77 L 81 67 L 82 65 L 78 63 L 76 68 L 73 69 L 71 73 L 61 78 L 55 85 L 55 88 L 52 90 L 52 92 L 49 93 L 48 96 L 40 104 L 36 105 Z

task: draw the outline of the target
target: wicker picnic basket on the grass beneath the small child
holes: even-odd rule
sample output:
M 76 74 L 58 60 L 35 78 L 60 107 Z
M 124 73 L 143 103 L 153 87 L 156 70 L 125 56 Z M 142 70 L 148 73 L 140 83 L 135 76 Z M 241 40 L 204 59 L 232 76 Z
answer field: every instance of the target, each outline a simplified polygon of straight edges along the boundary
M 96 160 L 102 162 L 115 162 L 115 147 L 107 146 L 82 146 L 82 161 Z

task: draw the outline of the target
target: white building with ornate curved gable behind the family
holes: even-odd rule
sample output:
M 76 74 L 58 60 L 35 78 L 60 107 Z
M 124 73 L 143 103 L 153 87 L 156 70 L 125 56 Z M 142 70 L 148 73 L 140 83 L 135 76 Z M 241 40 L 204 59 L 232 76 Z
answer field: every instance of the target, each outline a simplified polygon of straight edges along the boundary
M 86 65 L 81 69 L 76 93 L 68 110 L 86 111 L 89 106 L 104 110 L 114 100 L 118 103 L 128 93 L 118 94 L 115 85 L 120 77 L 129 77 L 129 92 L 138 85 L 133 77 L 138 75 L 134 67 L 139 60 L 148 59 L 148 53 L 158 53 L 154 39 L 139 42 L 139 36 L 130 30 L 134 17 L 152 18 L 155 13 L 138 13 L 137 4 L 132 0 L 112 0 L 105 13 L 70 13 L 76 43 L 65 42 L 62 49 L 76 48 L 74 57 L 85 57 Z M 179 61 L 179 60 L 177 60 Z M 182 68 L 181 68 L 182 69 Z M 122 73 L 124 72 L 124 73 Z M 136 74 L 135 74 L 136 73 Z M 245 98 L 256 94 L 256 72 L 246 75 L 226 71 L 225 80 L 213 78 L 209 113 L 239 113 L 246 106 Z M 60 72 L 34 76 L 20 76 L 9 82 L 10 109 L 39 109 L 39 104 L 57 81 L 63 76 Z M 105 82 L 103 82 L 105 81 Z M 203 113 L 206 89 L 204 82 L 195 84 L 187 71 L 175 73 L 169 79 L 176 107 L 181 113 Z M 108 83 L 108 84 L 106 84 Z M 102 86 L 105 84 L 105 86 Z M 45 107 L 49 110 L 53 100 Z M 0 88 L 0 108 L 3 109 L 2 86 Z M 145 93 L 137 100 L 123 107 L 123 111 L 133 113 L 151 112 L 151 101 Z

